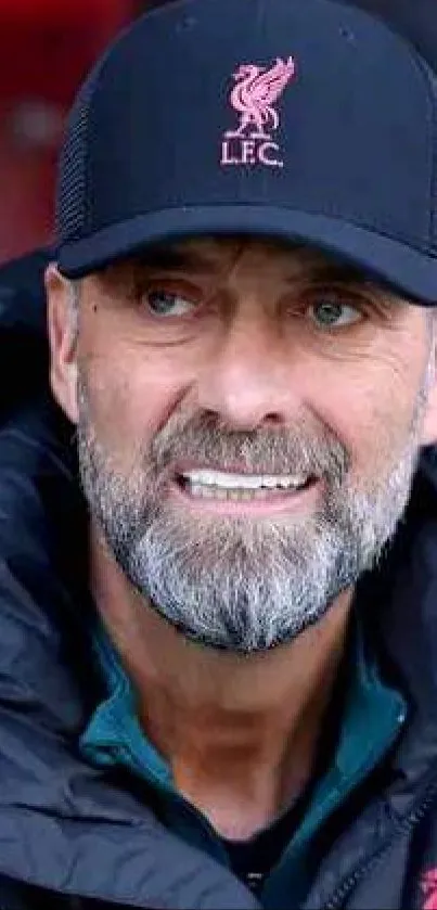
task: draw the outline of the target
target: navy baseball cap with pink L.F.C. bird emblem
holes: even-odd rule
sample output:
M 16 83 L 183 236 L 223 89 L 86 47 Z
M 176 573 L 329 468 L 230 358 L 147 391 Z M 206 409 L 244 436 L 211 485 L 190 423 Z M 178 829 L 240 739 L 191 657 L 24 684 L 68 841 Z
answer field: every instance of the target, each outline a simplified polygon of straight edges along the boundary
M 59 268 L 204 234 L 306 243 L 437 302 L 437 79 L 336 0 L 178 0 L 119 36 L 73 107 Z

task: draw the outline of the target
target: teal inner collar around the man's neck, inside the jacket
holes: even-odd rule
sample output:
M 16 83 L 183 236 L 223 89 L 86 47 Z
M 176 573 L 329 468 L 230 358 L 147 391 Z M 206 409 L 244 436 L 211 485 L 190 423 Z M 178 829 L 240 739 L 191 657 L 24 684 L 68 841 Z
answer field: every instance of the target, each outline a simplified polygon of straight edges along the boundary
M 262 901 L 266 907 L 278 906 L 284 893 L 293 894 L 295 906 L 298 905 L 298 898 L 301 899 L 309 887 L 305 870 L 309 868 L 312 838 L 384 758 L 406 720 L 407 706 L 402 696 L 382 680 L 375 661 L 367 654 L 357 613 L 354 611 L 351 617 L 345 658 L 346 689 L 335 748 L 326 756 L 326 767 L 323 767 L 321 756 L 321 770 L 304 818 L 281 862 L 266 882 Z M 132 685 L 102 627 L 95 630 L 93 648 L 107 695 L 94 710 L 81 736 L 83 756 L 99 767 L 121 766 L 145 780 L 160 795 L 165 817 L 173 833 L 226 863 L 219 836 L 205 817 L 178 793 L 170 766 L 140 727 Z M 330 723 L 330 718 L 325 722 Z M 321 739 L 323 747 L 323 730 Z

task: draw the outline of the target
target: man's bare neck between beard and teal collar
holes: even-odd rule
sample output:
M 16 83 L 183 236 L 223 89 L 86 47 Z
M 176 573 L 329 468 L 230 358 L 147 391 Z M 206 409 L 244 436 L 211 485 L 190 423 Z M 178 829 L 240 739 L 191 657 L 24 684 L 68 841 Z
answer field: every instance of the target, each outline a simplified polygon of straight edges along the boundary
M 132 590 L 95 533 L 91 556 L 95 603 L 144 731 L 222 836 L 250 836 L 311 777 L 352 592 L 290 644 L 242 656 L 184 639 Z

